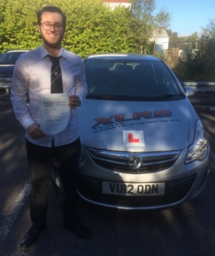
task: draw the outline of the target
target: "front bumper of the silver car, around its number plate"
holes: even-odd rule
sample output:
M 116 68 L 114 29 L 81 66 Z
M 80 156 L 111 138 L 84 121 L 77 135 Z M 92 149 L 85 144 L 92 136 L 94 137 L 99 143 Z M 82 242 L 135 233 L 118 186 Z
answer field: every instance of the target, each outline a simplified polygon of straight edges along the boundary
M 87 154 L 87 152 L 85 152 Z M 177 206 L 197 196 L 205 187 L 210 171 L 209 156 L 184 165 L 186 150 L 176 163 L 156 173 L 121 174 L 96 165 L 87 155 L 78 172 L 78 194 L 83 200 L 110 208 L 153 210 Z M 127 196 L 102 193 L 102 181 L 156 183 L 165 182 L 165 195 Z

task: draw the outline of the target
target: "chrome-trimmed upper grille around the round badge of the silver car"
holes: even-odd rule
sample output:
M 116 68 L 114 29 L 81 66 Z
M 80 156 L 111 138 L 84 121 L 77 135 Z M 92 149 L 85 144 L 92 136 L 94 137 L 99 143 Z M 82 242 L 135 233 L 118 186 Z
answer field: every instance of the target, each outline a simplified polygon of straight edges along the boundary
M 88 148 L 91 159 L 108 170 L 120 173 L 154 173 L 170 168 L 178 159 L 180 151 L 131 153 L 121 151 L 103 151 Z M 128 164 L 129 157 L 136 155 L 140 158 L 141 165 L 131 168 Z

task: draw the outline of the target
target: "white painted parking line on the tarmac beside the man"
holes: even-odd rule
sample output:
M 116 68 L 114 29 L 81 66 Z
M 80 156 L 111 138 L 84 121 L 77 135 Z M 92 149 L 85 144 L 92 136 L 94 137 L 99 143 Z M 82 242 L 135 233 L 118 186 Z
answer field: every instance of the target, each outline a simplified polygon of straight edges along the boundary
M 7 234 L 10 232 L 10 229 L 15 222 L 15 219 L 18 216 L 20 207 L 25 203 L 26 197 L 29 196 L 31 190 L 31 178 L 28 179 L 22 191 L 16 198 L 15 202 L 12 205 L 12 208 L 9 213 L 7 213 L 6 217 L 3 221 L 3 226 L 0 227 L 0 246 L 4 242 Z

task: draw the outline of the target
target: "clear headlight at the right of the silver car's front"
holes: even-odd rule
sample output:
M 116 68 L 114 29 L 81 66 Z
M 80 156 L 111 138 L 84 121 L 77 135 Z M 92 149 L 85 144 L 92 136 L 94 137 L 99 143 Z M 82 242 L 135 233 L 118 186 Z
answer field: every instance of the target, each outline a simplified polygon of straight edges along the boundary
M 189 147 L 186 156 L 186 164 L 195 160 L 203 160 L 208 153 L 208 138 L 200 120 L 195 127 L 195 140 Z

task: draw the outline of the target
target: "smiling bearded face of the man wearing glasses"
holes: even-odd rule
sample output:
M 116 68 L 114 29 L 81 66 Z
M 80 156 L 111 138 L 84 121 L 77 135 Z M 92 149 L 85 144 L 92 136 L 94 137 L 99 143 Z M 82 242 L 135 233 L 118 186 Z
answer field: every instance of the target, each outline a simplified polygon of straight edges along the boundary
M 41 25 L 43 24 L 43 25 Z M 48 48 L 58 49 L 64 37 L 63 18 L 58 12 L 43 12 L 41 24 L 38 26 L 43 43 Z M 48 25 L 55 25 L 49 26 Z

